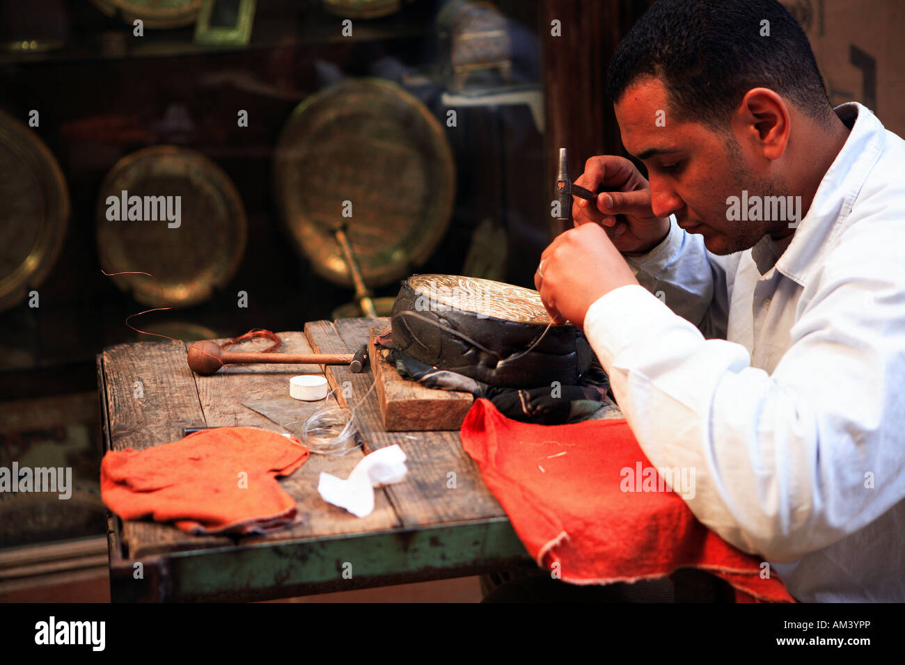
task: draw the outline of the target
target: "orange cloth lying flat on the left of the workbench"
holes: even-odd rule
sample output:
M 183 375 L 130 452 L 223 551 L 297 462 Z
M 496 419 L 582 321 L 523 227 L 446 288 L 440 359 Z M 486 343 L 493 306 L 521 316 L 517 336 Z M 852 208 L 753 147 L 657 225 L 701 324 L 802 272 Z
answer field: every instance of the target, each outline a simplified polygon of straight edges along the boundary
M 295 500 L 276 479 L 308 455 L 297 440 L 256 427 L 202 430 L 145 451 L 107 452 L 100 498 L 123 519 L 198 534 L 264 533 L 295 518 Z

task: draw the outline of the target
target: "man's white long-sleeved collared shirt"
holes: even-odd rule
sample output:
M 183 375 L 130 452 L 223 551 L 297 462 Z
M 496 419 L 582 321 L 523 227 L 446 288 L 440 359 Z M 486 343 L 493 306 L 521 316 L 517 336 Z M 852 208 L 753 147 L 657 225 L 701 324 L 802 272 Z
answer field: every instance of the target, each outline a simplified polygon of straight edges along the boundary
M 798 600 L 902 602 L 905 141 L 835 110 L 852 131 L 785 252 L 716 256 L 672 219 L 585 331 L 653 466 L 695 470 L 703 524 Z

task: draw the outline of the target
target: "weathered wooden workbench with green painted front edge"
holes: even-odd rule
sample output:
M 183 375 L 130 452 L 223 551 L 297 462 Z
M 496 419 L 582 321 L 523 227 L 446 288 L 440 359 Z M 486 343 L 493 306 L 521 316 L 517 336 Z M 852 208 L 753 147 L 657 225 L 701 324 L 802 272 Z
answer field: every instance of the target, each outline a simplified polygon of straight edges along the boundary
M 370 327 L 387 323 L 386 318 L 312 322 L 304 334 L 279 333 L 281 351 L 353 353 L 367 342 Z M 326 372 L 332 385 L 349 381 L 352 404 L 373 381 L 369 371 L 355 375 L 345 366 L 228 366 L 225 374 L 199 376 L 188 369 L 185 347 L 176 342 L 109 347 L 97 366 L 103 444 L 114 451 L 176 441 L 190 426 L 257 425 L 285 432 L 242 403 L 287 394 L 293 375 Z M 281 480 L 298 503 L 300 525 L 238 539 L 192 536 L 110 515 L 111 598 L 263 600 L 533 565 L 476 464 L 462 451 L 459 432 L 384 432 L 375 391 L 358 407 L 356 422 L 364 451 L 312 454 Z M 408 456 L 409 472 L 403 482 L 377 490 L 371 515 L 356 518 L 320 499 L 321 470 L 345 478 L 364 454 L 394 443 Z

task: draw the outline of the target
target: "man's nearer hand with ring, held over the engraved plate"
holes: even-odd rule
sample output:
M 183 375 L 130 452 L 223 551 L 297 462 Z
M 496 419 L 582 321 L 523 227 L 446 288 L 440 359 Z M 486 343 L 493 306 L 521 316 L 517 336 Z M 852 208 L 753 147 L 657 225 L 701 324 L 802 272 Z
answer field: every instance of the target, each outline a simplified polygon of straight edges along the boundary
M 634 273 L 606 232 L 595 223 L 561 233 L 540 255 L 534 285 L 550 316 L 585 328 L 587 309 L 621 286 L 637 284 Z

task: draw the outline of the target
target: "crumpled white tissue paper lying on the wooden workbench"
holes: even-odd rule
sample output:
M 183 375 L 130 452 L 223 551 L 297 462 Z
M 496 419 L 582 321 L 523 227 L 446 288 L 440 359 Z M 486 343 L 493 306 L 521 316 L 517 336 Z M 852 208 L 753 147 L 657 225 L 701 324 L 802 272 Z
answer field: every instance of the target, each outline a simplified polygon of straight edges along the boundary
M 364 518 L 374 511 L 374 488 L 399 482 L 407 472 L 402 448 L 387 446 L 365 455 L 348 480 L 321 471 L 318 491 L 321 499 Z

